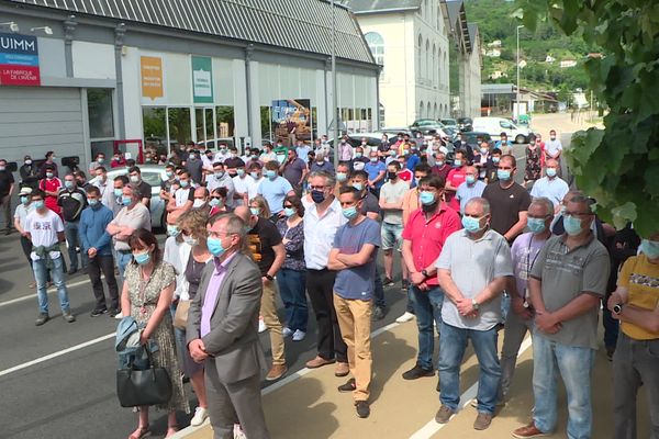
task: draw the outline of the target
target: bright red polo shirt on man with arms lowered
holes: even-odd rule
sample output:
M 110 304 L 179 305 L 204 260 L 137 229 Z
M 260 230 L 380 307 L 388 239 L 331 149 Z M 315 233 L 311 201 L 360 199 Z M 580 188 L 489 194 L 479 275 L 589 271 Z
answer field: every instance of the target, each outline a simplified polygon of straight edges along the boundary
M 403 239 L 412 243 L 412 257 L 416 270 L 422 271 L 434 264 L 446 238 L 460 228 L 460 215 L 446 203 L 442 203 L 439 211 L 428 221 L 423 210 L 412 212 L 403 229 Z M 433 286 L 439 284 L 437 277 L 429 278 L 426 283 Z

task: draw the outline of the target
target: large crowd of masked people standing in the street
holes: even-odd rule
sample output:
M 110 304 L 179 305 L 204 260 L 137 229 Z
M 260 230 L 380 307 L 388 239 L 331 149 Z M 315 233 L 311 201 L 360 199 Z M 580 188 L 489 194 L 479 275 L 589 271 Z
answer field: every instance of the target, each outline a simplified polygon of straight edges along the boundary
M 68 273 L 81 267 L 91 280 L 91 316 L 130 316 L 142 328 L 141 342 L 158 346 L 153 361 L 167 369 L 174 390 L 160 407 L 169 413 L 168 436 L 178 429 L 176 412 L 190 410 L 187 376 L 199 404 L 193 426 L 210 417 L 216 438 L 267 438 L 261 370 L 268 381 L 287 373 L 286 340 L 308 336 L 308 299 L 317 353 L 306 367 L 332 364 L 336 376 L 349 376 L 337 390 L 351 394 L 357 416 L 369 416 L 371 322 L 386 316 L 384 288 L 400 272 L 407 303 L 396 320 L 415 319 L 418 335 L 415 364 L 402 379 L 438 371 L 437 423 L 448 423 L 459 407 L 470 340 L 480 369 L 473 428 L 487 429 L 511 397 L 517 352 L 530 334 L 534 371 L 527 384 L 535 404 L 532 421 L 513 436 L 556 429 L 560 375 L 567 435 L 590 438 L 603 308 L 615 437 L 636 437 L 643 385 L 657 438 L 659 229 L 641 239 L 632 225 L 616 230 L 602 223 L 594 201 L 561 178 L 562 146 L 556 132 L 549 134 L 546 143 L 538 135 L 525 147 L 523 184 L 515 181 L 521 171 L 503 134 L 492 145 L 470 145 L 462 135 L 450 148 L 445 139 L 403 133 L 383 136 L 377 147 L 367 139 L 353 147 L 344 137 L 335 145 L 336 168 L 326 136 L 313 146 L 247 149 L 243 157 L 235 147 L 215 153 L 189 145 L 166 157 L 159 192 L 166 203 L 164 249 L 150 232 L 152 188 L 138 166 L 124 160 L 118 166 L 126 175 L 109 181 L 105 157 L 98 155 L 89 168 L 97 179 L 89 184 L 80 171 L 60 180 L 51 154 L 34 181 L 23 179 L 13 221 L 34 271 L 35 323 L 49 319 L 51 282 L 64 318 L 76 319 L 59 247 L 66 240 Z M 119 161 L 115 156 L 110 166 Z M 0 160 L 3 205 L 14 190 L 5 166 Z M 264 330 L 269 360 L 258 339 Z M 131 438 L 149 432 L 148 407 L 141 407 Z

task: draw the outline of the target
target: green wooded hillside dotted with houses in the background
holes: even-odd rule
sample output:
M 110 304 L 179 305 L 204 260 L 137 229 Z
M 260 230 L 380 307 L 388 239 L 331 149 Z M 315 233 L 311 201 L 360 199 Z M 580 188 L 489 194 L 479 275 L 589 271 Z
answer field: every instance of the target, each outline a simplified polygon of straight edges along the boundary
M 515 2 L 505 0 L 466 0 L 467 18 L 478 24 L 487 55 L 500 52 L 499 57 L 483 55 L 482 81 L 516 81 L 516 25 L 511 18 Z M 492 45 L 501 41 L 501 47 Z M 588 79 L 582 63 L 596 52 L 579 36 L 565 36 L 549 23 L 539 23 L 532 33 L 520 31 L 520 59 L 526 63 L 521 69 L 521 87 L 538 91 L 574 91 L 587 89 Z M 549 57 L 549 58 L 548 58 Z M 562 67 L 561 61 L 573 60 L 574 67 Z M 524 63 L 521 63 L 523 65 Z M 565 65 L 565 63 L 563 63 Z M 499 75 L 503 75 L 499 77 Z

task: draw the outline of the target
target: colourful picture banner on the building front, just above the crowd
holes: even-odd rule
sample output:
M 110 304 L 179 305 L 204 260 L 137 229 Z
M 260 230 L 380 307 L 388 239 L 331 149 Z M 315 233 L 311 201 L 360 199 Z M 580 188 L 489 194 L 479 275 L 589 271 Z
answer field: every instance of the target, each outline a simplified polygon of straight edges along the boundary
M 287 146 L 293 146 L 297 140 L 311 143 L 311 100 L 272 101 L 272 133 L 273 142 L 281 139 Z

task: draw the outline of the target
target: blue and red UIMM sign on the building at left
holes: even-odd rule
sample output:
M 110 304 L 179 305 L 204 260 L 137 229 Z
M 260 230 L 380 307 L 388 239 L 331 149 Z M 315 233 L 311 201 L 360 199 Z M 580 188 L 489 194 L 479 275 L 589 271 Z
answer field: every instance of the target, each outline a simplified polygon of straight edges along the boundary
M 0 33 L 0 86 L 40 85 L 36 37 Z

